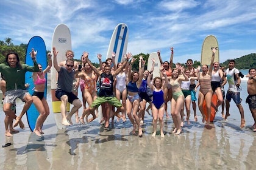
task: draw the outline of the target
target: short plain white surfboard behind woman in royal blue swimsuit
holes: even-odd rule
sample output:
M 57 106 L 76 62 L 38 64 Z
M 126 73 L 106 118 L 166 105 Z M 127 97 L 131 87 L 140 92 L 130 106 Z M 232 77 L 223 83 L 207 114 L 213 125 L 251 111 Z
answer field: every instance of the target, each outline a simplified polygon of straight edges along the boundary
M 155 65 L 154 65 L 154 70 L 153 70 L 153 77 L 160 77 L 160 60 L 159 57 L 157 55 L 157 52 L 153 52 L 149 55 L 148 58 L 148 70 L 150 71 L 152 68 L 152 59 L 155 60 Z

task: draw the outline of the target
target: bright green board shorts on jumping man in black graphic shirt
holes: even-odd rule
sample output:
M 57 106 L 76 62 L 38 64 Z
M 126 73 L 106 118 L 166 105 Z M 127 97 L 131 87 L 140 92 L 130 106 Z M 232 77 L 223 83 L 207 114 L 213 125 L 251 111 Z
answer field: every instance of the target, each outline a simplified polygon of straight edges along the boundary
M 91 107 L 98 108 L 102 103 L 109 103 L 115 107 L 122 106 L 122 104 L 116 97 L 97 97 L 96 100 L 91 103 Z

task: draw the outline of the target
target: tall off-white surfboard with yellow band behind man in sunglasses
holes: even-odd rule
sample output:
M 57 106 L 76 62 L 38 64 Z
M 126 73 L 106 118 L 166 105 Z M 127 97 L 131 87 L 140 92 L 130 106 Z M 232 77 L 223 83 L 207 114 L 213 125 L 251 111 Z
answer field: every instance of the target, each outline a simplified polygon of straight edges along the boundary
M 65 24 L 59 24 L 55 27 L 52 36 L 52 47 L 59 51 L 57 61 L 66 60 L 66 50 L 71 50 L 71 34 Z M 52 61 L 53 62 L 53 61 Z M 51 94 L 52 94 L 52 110 L 54 112 L 55 123 L 58 129 L 65 129 L 66 126 L 62 124 L 62 115 L 60 114 L 60 100 L 55 97 L 55 90 L 57 88 L 57 71 L 51 67 Z M 69 112 L 70 104 L 67 104 L 66 110 Z

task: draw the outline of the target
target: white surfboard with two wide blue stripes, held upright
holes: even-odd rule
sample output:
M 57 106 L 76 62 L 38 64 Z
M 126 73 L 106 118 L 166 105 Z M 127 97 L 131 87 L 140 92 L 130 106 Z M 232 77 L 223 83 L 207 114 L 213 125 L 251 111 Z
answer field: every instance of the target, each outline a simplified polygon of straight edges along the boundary
M 121 63 L 126 54 L 129 30 L 126 24 L 116 25 L 107 50 L 107 58 L 112 58 L 112 52 L 116 53 L 115 63 Z

